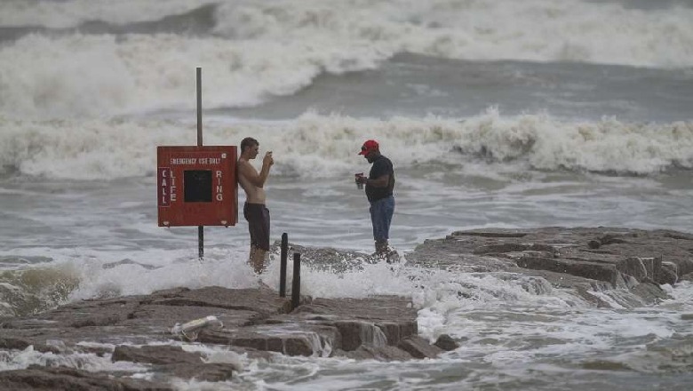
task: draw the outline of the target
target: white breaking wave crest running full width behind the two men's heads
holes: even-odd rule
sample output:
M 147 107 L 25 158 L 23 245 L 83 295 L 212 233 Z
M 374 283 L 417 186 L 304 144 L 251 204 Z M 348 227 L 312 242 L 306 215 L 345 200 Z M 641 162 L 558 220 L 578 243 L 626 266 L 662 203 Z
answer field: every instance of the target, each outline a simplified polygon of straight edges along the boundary
M 150 176 L 155 148 L 194 145 L 194 124 L 158 120 L 12 121 L 0 118 L 0 170 L 75 180 Z M 569 170 L 647 174 L 693 168 L 693 124 L 632 124 L 613 118 L 566 122 L 547 115 L 466 120 L 387 120 L 306 114 L 283 122 L 211 121 L 206 145 L 238 145 L 247 135 L 273 150 L 275 174 L 329 178 L 363 162 L 356 152 L 376 139 L 400 168 L 473 164 L 475 175 Z M 485 162 L 482 163 L 482 162 Z M 477 170 L 484 165 L 490 173 Z M 468 172 L 472 173 L 472 172 Z

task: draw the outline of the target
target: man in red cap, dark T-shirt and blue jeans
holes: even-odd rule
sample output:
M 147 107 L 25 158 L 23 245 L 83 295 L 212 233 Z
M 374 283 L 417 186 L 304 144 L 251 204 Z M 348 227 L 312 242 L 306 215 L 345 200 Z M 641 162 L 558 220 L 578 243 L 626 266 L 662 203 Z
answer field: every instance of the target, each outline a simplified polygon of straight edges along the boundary
M 394 214 L 394 169 L 386 156 L 380 155 L 378 141 L 367 140 L 359 155 L 373 164 L 368 178 L 357 177 L 356 183 L 366 185 L 366 197 L 370 203 L 370 221 L 373 224 L 373 239 L 376 255 L 388 263 L 395 260 L 396 252 L 389 248 L 390 222 Z

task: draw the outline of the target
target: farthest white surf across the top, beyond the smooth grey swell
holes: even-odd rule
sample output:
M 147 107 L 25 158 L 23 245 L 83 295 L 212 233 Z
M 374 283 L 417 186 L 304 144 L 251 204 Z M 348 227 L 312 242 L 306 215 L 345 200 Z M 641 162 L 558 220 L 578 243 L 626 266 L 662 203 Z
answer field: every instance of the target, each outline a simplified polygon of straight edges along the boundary
M 21 3 L 21 4 L 20 4 Z M 207 4 L 199 1 L 197 4 Z M 0 5 L 0 25 L 78 25 L 156 19 L 190 2 L 23 2 Z M 4 19 L 4 20 L 3 20 Z M 258 105 L 299 92 L 323 73 L 378 68 L 396 53 L 462 60 L 693 65 L 693 9 L 647 12 L 621 3 L 296 0 L 217 7 L 214 36 L 22 36 L 0 47 L 0 113 L 112 116 L 194 105 Z M 17 70 L 20 69 L 20 72 Z M 627 104 L 627 102 L 625 102 Z

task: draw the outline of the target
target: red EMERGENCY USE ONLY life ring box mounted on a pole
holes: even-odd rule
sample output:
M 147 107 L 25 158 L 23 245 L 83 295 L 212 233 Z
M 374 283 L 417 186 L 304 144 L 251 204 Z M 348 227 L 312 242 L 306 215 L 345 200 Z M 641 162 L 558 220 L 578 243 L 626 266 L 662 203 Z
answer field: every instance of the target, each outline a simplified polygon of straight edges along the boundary
M 235 226 L 235 146 L 157 147 L 159 227 Z

